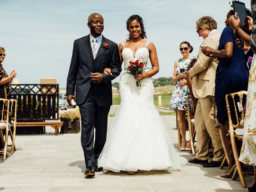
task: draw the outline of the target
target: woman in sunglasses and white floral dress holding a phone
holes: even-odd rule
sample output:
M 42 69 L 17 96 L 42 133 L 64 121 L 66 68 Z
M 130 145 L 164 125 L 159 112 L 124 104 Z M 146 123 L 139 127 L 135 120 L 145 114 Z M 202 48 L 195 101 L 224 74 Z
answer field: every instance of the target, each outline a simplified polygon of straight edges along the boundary
M 179 127 L 180 133 L 182 136 L 182 146 L 180 148 L 181 151 L 190 151 L 190 142 L 188 142 L 188 146 L 186 146 L 186 122 L 185 122 L 185 114 L 186 110 L 189 107 L 189 110 L 192 110 L 192 105 L 187 105 L 186 98 L 190 95 L 187 81 L 186 81 L 186 72 L 188 70 L 188 65 L 192 61 L 193 57 L 190 56 L 190 53 L 193 51 L 193 47 L 189 42 L 184 41 L 180 44 L 180 53 L 182 54 L 182 58 L 178 59 L 174 63 L 174 72 L 173 72 L 173 82 L 174 90 L 172 92 L 172 98 L 170 103 L 171 110 L 177 110 L 179 117 Z M 192 100 L 190 100 L 192 103 Z

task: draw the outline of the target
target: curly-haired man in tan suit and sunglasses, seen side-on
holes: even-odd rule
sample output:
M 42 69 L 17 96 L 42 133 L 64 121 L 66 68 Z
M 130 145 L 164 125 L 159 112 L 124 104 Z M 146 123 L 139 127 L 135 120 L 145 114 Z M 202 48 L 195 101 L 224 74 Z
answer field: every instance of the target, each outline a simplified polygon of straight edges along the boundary
M 196 32 L 202 36 L 203 46 L 218 49 L 220 32 L 217 30 L 216 21 L 210 16 L 204 16 L 196 22 Z M 216 104 L 214 101 L 215 73 L 218 60 L 205 56 L 199 48 L 197 62 L 189 70 L 192 78 L 193 94 L 198 98 L 195 114 L 196 129 L 196 158 L 189 160 L 190 163 L 203 164 L 204 167 L 218 167 L 224 158 L 222 142 L 220 140 L 220 125 L 216 118 Z M 208 163 L 208 142 L 212 139 L 214 157 Z

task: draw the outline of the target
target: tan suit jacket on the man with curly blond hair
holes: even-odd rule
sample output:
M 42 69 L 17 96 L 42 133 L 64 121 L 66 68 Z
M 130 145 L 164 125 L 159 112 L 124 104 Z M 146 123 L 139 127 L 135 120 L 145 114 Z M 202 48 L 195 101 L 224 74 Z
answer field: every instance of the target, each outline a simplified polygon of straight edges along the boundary
M 220 32 L 216 30 L 204 39 L 202 45 L 218 49 L 219 40 Z M 218 60 L 205 56 L 201 48 L 199 48 L 197 62 L 189 70 L 190 77 L 192 78 L 193 94 L 196 98 L 214 96 L 217 66 Z

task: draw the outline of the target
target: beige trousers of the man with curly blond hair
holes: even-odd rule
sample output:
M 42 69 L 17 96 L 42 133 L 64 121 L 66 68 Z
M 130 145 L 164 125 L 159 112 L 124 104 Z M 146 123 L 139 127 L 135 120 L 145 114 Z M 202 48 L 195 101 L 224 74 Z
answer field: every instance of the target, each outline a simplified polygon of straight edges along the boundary
M 208 159 L 208 143 L 212 139 L 214 147 L 214 161 L 222 161 L 224 150 L 220 140 L 220 124 L 216 117 L 217 108 L 213 96 L 199 98 L 196 105 L 195 130 L 196 130 L 196 158 Z

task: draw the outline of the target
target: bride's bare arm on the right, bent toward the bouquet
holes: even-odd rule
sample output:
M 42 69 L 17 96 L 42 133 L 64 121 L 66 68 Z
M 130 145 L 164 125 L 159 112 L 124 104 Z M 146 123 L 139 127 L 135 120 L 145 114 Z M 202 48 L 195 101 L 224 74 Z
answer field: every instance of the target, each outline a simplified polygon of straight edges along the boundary
M 152 68 L 145 73 L 135 75 L 134 78 L 136 81 L 140 81 L 146 77 L 152 77 L 155 74 L 157 74 L 159 71 L 159 63 L 158 63 L 158 58 L 156 53 L 156 47 L 152 42 L 149 44 L 149 58 L 150 58 Z

